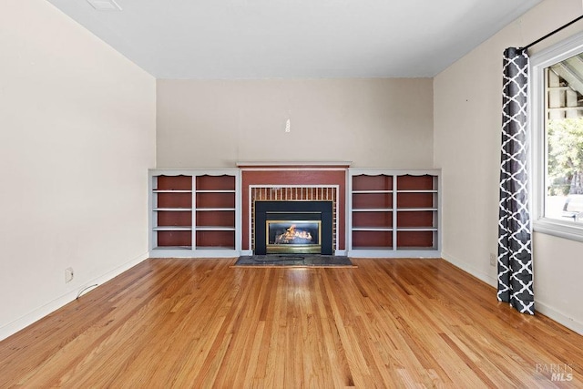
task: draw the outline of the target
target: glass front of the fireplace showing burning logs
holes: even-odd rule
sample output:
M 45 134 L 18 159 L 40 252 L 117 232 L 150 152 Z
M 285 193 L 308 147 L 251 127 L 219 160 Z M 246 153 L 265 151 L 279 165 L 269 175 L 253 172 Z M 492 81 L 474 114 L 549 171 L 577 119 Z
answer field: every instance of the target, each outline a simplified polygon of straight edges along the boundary
M 322 252 L 321 220 L 266 220 L 267 253 Z

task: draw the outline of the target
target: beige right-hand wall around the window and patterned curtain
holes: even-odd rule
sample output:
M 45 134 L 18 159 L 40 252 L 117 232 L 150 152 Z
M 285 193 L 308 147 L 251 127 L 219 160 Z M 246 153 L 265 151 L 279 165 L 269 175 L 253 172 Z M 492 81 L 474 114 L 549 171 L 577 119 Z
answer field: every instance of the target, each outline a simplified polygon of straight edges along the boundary
M 546 0 L 435 77 L 435 166 L 443 169 L 443 254 L 496 285 L 502 53 L 581 15 L 580 0 Z M 581 31 L 571 26 L 533 47 Z M 537 309 L 583 332 L 583 243 L 534 234 Z M 578 261 L 577 261 L 577 260 Z

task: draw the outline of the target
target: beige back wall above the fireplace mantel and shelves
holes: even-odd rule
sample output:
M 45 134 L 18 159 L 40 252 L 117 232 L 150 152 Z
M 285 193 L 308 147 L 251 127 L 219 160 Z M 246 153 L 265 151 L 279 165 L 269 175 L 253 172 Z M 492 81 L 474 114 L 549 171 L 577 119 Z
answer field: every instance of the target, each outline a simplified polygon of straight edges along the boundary
M 157 86 L 159 168 L 233 167 L 240 160 L 433 165 L 431 78 L 158 80 Z

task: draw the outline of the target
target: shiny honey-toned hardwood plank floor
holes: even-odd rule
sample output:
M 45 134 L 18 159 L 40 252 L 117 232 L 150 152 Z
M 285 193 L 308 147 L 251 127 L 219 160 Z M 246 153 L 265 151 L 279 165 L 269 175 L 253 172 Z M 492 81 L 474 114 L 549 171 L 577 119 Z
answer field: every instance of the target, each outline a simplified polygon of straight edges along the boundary
M 583 336 L 446 261 L 232 263 L 140 263 L 1 342 L 0 387 L 583 386 Z

